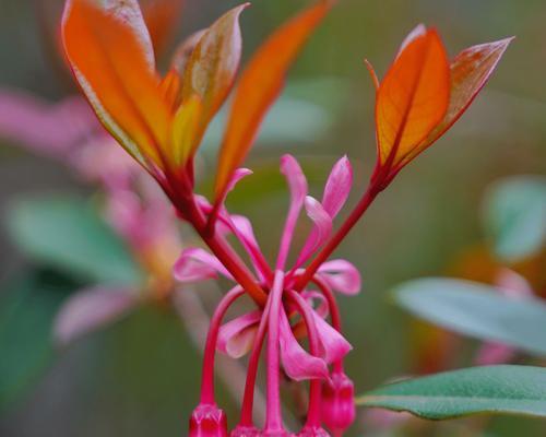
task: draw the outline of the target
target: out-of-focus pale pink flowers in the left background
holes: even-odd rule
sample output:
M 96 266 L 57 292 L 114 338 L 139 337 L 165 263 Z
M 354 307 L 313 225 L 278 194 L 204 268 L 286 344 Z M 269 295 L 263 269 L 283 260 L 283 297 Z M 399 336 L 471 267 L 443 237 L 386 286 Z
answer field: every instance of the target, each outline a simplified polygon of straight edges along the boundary
M 71 96 L 47 103 L 0 90 L 0 138 L 67 164 L 79 179 L 97 187 L 104 217 L 147 276 L 132 287 L 93 284 L 75 291 L 57 316 L 57 343 L 70 343 L 173 291 L 170 268 L 182 247 L 174 209 L 153 179 L 116 146 L 85 99 Z

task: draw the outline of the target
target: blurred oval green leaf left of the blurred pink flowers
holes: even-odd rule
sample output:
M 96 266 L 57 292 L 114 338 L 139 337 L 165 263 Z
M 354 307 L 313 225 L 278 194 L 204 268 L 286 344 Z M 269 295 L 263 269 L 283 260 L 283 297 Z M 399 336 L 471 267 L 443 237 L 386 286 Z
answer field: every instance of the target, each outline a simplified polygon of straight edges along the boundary
M 133 285 L 140 280 L 123 241 L 85 201 L 22 200 L 11 205 L 7 218 L 15 244 L 38 261 L 100 283 Z

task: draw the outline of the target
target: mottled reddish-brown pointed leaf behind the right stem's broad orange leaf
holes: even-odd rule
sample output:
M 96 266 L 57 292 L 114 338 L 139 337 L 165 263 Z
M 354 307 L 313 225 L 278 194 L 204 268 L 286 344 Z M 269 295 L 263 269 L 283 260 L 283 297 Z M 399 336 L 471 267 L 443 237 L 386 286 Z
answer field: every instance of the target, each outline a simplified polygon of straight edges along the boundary
M 451 62 L 451 96 L 443 120 L 419 145 L 424 150 L 438 140 L 468 108 L 485 86 L 513 38 L 480 44 L 461 51 Z

